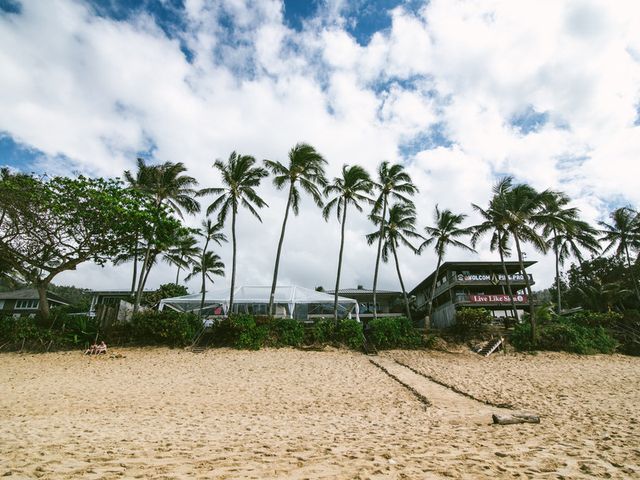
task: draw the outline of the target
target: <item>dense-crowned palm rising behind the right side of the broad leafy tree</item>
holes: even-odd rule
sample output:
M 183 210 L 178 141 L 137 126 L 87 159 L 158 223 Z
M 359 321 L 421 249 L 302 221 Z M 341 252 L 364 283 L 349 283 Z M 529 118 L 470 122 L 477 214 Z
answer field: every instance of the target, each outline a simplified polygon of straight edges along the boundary
M 124 172 L 124 177 L 132 188 L 141 191 L 154 200 L 156 208 L 166 206 L 174 211 L 180 218 L 183 218 L 182 210 L 187 213 L 197 213 L 200 211 L 200 204 L 194 199 L 196 191 L 193 187 L 198 181 L 188 175 L 184 175 L 187 168 L 182 162 L 172 163 L 165 162 L 161 165 L 147 165 L 145 161 L 138 158 L 138 170 L 133 176 L 129 170 Z M 142 298 L 142 290 L 149 276 L 149 271 L 153 262 L 152 254 L 152 235 L 151 239 L 147 239 L 147 246 L 142 262 L 142 269 L 138 280 L 138 288 L 134 302 L 134 311 L 140 306 Z M 164 246 L 162 247 L 164 248 Z M 135 261 L 134 257 L 134 261 Z M 135 268 L 135 267 L 134 267 Z

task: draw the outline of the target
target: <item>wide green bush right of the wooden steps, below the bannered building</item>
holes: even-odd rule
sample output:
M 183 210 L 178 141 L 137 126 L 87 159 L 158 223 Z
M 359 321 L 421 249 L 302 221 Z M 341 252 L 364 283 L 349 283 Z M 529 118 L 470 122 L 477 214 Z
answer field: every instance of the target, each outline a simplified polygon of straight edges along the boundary
M 579 354 L 613 353 L 618 342 L 602 326 L 576 323 L 573 319 L 558 317 L 556 321 L 539 325 L 537 339 L 531 341 L 531 325 L 516 325 L 511 343 L 516 350 L 549 350 Z

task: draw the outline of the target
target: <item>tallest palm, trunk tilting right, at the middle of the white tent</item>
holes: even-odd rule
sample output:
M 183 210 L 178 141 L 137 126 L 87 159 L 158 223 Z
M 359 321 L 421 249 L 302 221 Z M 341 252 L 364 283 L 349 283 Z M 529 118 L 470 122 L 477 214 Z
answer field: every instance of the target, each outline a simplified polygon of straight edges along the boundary
M 271 294 L 269 295 L 269 315 L 273 313 L 273 302 L 276 294 L 276 283 L 278 281 L 278 268 L 280 267 L 280 252 L 284 242 L 284 232 L 289 218 L 289 209 L 294 215 L 298 215 L 300 205 L 300 190 L 302 189 L 311 195 L 316 205 L 320 208 L 324 206 L 322 202 L 322 188 L 327 185 L 324 174 L 324 165 L 327 161 L 316 150 L 306 143 L 298 143 L 289 150 L 289 166 L 285 167 L 280 162 L 265 160 L 265 165 L 273 173 L 273 184 L 278 190 L 285 185 L 289 185 L 289 195 L 287 196 L 287 206 L 284 211 L 282 230 L 276 252 L 276 263 L 273 267 L 273 281 L 271 282 Z

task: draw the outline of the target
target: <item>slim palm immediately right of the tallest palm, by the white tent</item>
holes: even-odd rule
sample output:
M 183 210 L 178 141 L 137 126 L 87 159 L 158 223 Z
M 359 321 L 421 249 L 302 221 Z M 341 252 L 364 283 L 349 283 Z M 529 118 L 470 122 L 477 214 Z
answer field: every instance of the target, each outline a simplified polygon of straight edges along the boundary
M 344 228 L 347 224 L 347 207 L 353 205 L 359 212 L 362 207 L 358 202 L 373 203 L 373 200 L 367 196 L 371 193 L 373 182 L 367 171 L 358 166 L 342 167 L 342 176 L 333 179 L 333 183 L 324 188 L 326 196 L 334 195 L 322 210 L 325 220 L 328 220 L 331 210 L 336 208 L 338 220 L 342 223 L 340 233 L 340 253 L 338 254 L 338 273 L 336 275 L 336 289 L 333 298 L 333 319 L 338 321 L 338 290 L 340 289 L 340 273 L 342 271 L 342 254 L 344 252 Z M 340 217 L 342 216 L 342 219 Z

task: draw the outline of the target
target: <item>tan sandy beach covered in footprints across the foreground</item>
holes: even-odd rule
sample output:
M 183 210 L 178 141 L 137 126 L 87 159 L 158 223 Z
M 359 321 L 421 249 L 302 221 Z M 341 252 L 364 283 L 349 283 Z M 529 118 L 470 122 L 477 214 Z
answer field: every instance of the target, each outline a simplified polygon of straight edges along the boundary
M 4 353 L 0 386 L 12 479 L 640 478 L 640 358 Z

